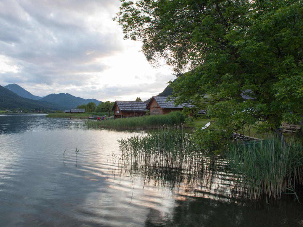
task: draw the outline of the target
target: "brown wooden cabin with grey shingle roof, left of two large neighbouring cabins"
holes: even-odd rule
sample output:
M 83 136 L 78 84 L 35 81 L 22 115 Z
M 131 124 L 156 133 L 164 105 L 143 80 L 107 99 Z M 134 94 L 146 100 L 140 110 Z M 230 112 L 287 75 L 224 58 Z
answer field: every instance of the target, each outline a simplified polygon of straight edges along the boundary
M 144 102 L 115 101 L 112 108 L 115 111 L 114 119 L 122 117 L 139 117 L 146 114 Z

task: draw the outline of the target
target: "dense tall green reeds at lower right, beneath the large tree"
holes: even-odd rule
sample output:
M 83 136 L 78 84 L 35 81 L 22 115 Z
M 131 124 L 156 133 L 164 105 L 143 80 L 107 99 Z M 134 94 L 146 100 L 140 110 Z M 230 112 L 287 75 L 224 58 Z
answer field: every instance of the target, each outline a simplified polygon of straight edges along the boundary
M 271 137 L 248 145 L 234 143 L 226 156 L 237 190 L 251 199 L 297 196 L 296 188 L 303 185 L 303 150 L 298 140 L 286 143 Z

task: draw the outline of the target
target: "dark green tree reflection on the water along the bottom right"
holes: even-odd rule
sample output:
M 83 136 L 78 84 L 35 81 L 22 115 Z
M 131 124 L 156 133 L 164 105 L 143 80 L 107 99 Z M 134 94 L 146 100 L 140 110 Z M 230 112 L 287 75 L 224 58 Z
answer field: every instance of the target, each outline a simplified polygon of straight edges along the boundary
M 177 200 L 171 215 L 150 209 L 145 226 L 302 226 L 298 203 L 281 201 L 277 206 L 235 204 L 201 197 Z M 294 211 L 294 212 L 293 212 Z

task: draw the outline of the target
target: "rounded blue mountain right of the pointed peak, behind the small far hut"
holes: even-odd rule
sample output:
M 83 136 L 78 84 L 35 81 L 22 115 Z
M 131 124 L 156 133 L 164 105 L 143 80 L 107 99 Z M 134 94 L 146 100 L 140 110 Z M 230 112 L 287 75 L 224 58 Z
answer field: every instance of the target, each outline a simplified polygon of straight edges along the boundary
M 94 102 L 96 105 L 98 105 L 101 101 L 96 100 L 96 99 L 84 99 L 80 97 L 75 97 L 71 94 L 68 93 L 60 93 L 60 94 L 49 94 L 40 101 L 48 101 L 48 102 L 53 102 L 60 104 L 65 107 L 65 109 L 70 109 L 70 108 L 75 108 L 78 105 L 81 104 L 88 104 L 89 102 Z

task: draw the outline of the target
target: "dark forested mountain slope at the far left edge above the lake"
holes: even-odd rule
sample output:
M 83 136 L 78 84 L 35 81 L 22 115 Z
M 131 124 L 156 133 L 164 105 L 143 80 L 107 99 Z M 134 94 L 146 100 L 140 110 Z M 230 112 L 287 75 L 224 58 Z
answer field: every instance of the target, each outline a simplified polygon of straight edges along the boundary
M 18 108 L 18 109 L 41 108 L 41 109 L 50 109 L 50 110 L 64 109 L 63 106 L 58 105 L 56 103 L 32 100 L 32 99 L 21 97 L 18 94 L 0 85 L 0 109 L 13 109 L 13 108 Z

